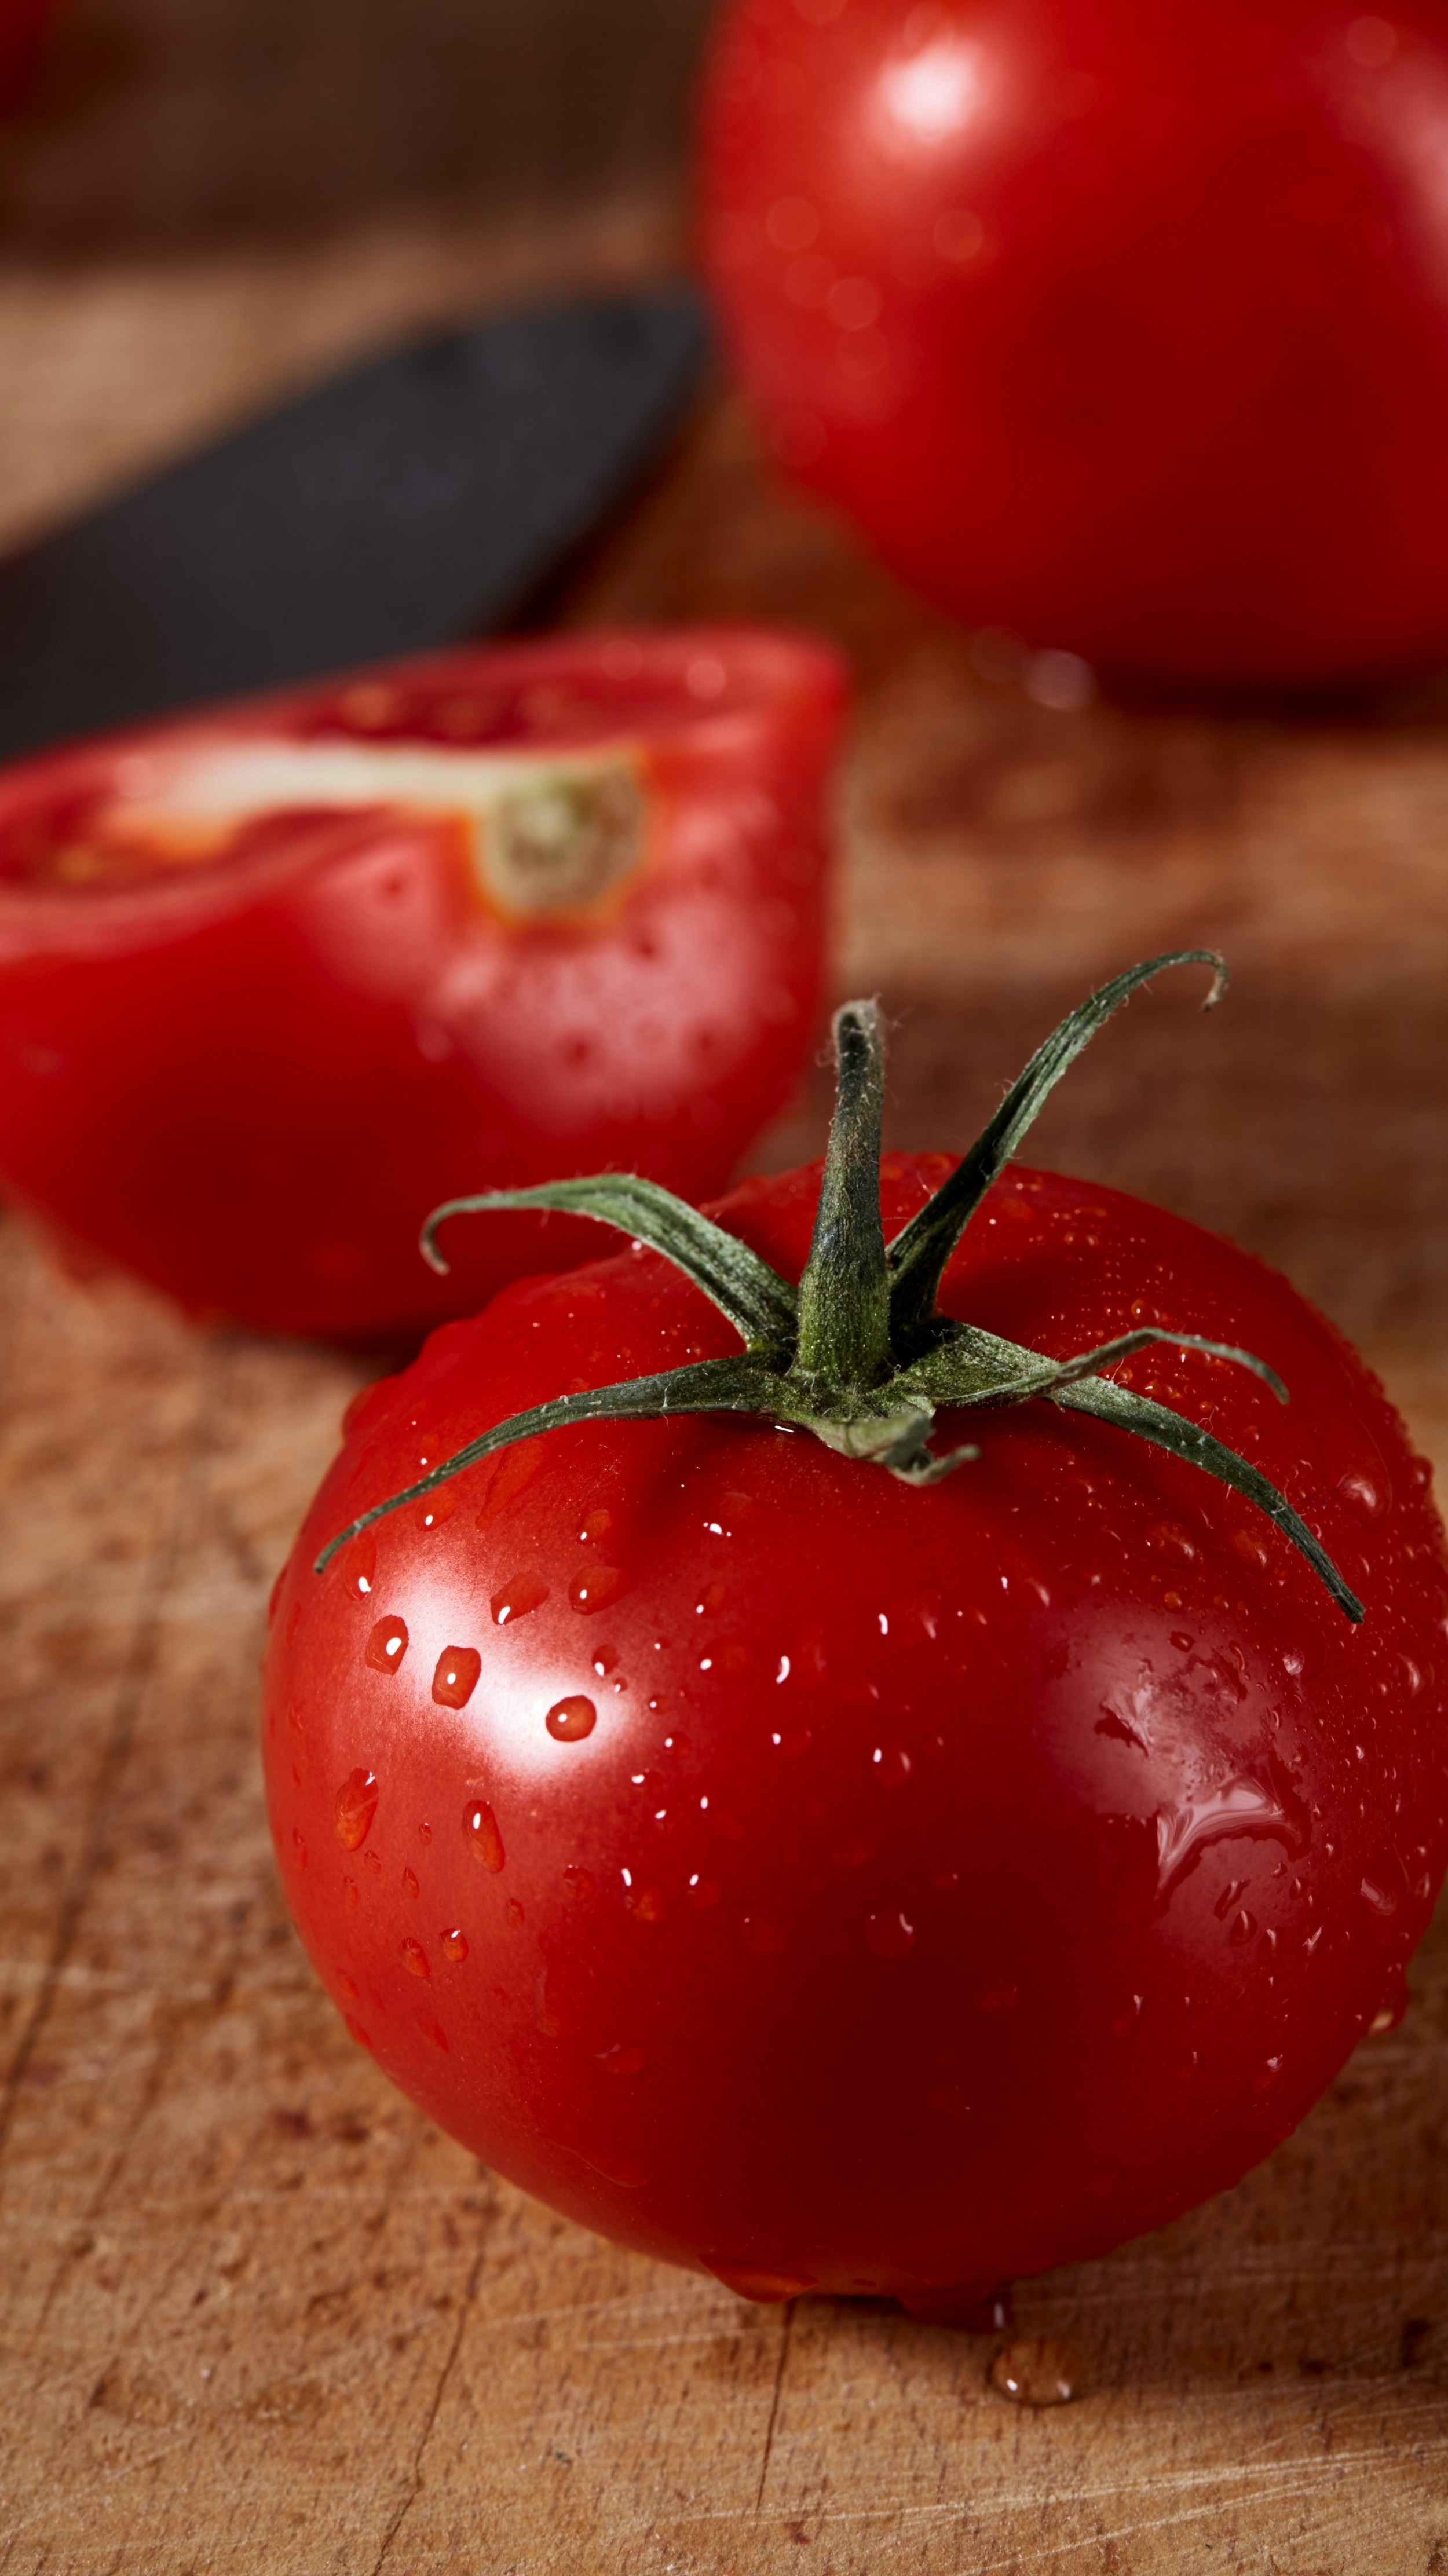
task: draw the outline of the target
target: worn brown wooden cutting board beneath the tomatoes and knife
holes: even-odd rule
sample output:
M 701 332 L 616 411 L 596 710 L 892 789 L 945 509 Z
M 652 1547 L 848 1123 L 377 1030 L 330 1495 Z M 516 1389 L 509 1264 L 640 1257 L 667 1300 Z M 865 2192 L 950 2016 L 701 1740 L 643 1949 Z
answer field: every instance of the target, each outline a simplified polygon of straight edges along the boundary
M 33 173 L 59 144 L 26 152 Z M 335 222 L 294 209 L 289 250 L 219 219 L 157 247 L 147 214 L 111 255 L 28 204 L 0 260 L 10 528 L 265 397 L 278 366 L 600 258 L 567 206 L 358 222 L 343 193 Z M 644 273 L 675 242 L 665 175 L 608 258 Z M 897 1141 L 964 1141 L 1090 979 L 1221 940 L 1226 1007 L 1139 999 L 1038 1157 L 1288 1267 L 1448 1471 L 1433 690 L 1335 726 L 1054 714 L 773 492 L 729 402 L 562 611 L 765 611 L 853 652 L 837 984 L 897 1018 Z M 817 1079 L 760 1159 L 819 1133 Z M 1007 2334 L 747 2308 L 618 2254 L 384 2084 L 278 1906 L 263 1602 L 358 1368 L 77 1285 L 13 1224 L 0 1316 L 5 2576 L 1448 2571 L 1448 1932 L 1402 2030 L 1268 2166 L 1020 2285 Z M 1067 2367 L 1080 2393 L 1049 2411 L 992 2383 L 1002 2344 L 1041 2336 L 1059 2349 L 995 2380 Z

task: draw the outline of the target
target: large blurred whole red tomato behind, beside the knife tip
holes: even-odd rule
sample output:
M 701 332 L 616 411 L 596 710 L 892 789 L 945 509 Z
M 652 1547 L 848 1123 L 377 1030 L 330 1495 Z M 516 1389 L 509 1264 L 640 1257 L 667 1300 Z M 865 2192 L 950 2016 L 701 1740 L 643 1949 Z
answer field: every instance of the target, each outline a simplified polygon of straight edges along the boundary
M 1448 652 L 1448 13 L 734 0 L 706 247 L 778 456 L 974 626 Z

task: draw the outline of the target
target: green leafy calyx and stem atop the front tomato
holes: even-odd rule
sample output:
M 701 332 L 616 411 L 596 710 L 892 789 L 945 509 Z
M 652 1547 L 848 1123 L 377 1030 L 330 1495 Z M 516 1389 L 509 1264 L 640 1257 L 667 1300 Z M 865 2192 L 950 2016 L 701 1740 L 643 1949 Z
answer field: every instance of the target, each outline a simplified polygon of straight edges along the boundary
M 1203 1002 L 1203 1010 L 1211 1010 L 1226 989 L 1226 966 L 1211 948 L 1183 948 L 1147 958 L 1077 1005 L 1036 1048 L 969 1154 L 891 1244 L 884 1239 L 879 1200 L 884 1020 L 876 1002 L 845 1002 L 835 1012 L 837 1097 L 814 1239 L 799 1288 L 698 1208 L 631 1172 L 446 1200 L 423 1226 L 423 1255 L 435 1270 L 446 1273 L 448 1267 L 438 1252 L 438 1231 L 456 1216 L 487 1216 L 505 1208 L 593 1216 L 662 1252 L 683 1270 L 729 1319 L 745 1350 L 724 1360 L 698 1360 L 657 1376 L 585 1388 L 510 1414 L 443 1458 L 417 1484 L 358 1515 L 330 1540 L 314 1571 L 322 1574 L 338 1548 L 358 1530 L 405 1502 L 430 1494 L 433 1486 L 459 1476 L 479 1458 L 572 1422 L 647 1422 L 667 1414 L 745 1412 L 809 1430 L 837 1455 L 881 1466 L 902 1484 L 930 1486 L 979 1458 L 979 1448 L 969 1440 L 943 1453 L 930 1448 L 940 1409 L 979 1412 L 1046 1399 L 1072 1412 L 1095 1414 L 1098 1422 L 1113 1422 L 1232 1486 L 1299 1548 L 1337 1607 L 1350 1620 L 1360 1620 L 1360 1600 L 1260 1468 L 1214 1440 L 1198 1422 L 1105 1376 L 1118 1360 L 1129 1360 L 1154 1342 L 1167 1342 L 1172 1350 L 1201 1350 L 1252 1370 L 1286 1404 L 1283 1381 L 1255 1352 L 1172 1332 L 1165 1324 L 1141 1324 L 1095 1350 L 1054 1360 L 1020 1342 L 982 1332 L 976 1324 L 938 1314 L 946 1262 L 1067 1066 L 1149 976 L 1165 966 L 1193 963 L 1214 971 Z

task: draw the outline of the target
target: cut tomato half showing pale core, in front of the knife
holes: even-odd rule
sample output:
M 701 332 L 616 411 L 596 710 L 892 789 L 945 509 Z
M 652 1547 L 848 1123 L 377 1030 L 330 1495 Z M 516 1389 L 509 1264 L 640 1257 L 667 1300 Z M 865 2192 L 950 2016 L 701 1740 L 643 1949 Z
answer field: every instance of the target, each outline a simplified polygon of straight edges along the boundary
M 719 1190 L 814 1036 L 832 654 L 453 652 L 0 778 L 0 1180 L 193 1311 L 384 1340 L 598 1249 L 438 1198 Z

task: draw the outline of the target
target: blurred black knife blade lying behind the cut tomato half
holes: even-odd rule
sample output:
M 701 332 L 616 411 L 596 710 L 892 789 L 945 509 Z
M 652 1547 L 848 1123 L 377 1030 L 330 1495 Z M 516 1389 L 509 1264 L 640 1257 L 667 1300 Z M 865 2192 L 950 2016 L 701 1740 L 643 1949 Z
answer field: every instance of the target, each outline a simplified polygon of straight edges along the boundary
M 691 289 L 335 376 L 0 559 L 0 757 L 500 626 L 683 417 Z

